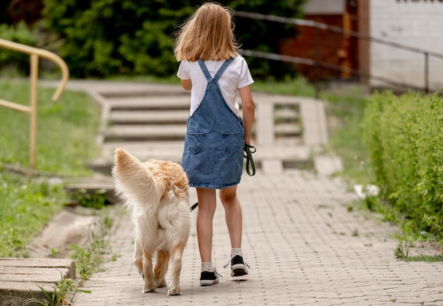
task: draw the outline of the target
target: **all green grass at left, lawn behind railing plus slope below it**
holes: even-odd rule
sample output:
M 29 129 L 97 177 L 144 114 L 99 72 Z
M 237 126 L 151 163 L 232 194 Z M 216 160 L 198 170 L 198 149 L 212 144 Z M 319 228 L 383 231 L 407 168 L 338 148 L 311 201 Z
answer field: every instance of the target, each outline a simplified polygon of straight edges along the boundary
M 30 82 L 0 79 L 0 99 L 29 105 Z M 52 102 L 53 88 L 38 88 L 36 169 L 57 175 L 91 175 L 97 155 L 100 107 L 88 95 L 66 90 Z M 4 165 L 29 165 L 29 116 L 0 107 L 0 257 L 28 257 L 25 245 L 40 233 L 67 199 L 63 186 L 23 177 Z

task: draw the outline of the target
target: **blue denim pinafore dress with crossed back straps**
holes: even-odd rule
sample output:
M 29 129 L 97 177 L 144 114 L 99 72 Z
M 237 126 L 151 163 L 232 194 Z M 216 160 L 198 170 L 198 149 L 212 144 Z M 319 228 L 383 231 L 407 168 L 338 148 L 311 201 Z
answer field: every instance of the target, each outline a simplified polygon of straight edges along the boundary
M 197 110 L 188 118 L 181 165 L 190 187 L 223 189 L 240 182 L 243 171 L 244 128 L 223 98 L 219 78 L 232 59 L 224 61 L 214 78 L 198 59 L 207 88 Z

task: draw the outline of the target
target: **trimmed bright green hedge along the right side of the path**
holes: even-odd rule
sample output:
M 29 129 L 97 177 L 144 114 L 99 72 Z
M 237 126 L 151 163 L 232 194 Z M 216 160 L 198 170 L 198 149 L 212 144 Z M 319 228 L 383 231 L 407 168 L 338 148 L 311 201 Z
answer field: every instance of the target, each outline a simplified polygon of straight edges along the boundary
M 375 93 L 364 114 L 382 199 L 416 232 L 443 237 L 443 99 Z

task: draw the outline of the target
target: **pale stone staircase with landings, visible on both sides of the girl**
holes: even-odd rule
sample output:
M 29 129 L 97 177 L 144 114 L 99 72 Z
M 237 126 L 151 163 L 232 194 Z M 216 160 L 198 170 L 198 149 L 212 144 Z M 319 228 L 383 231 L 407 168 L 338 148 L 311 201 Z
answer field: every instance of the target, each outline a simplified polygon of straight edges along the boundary
M 98 144 L 100 158 L 91 162 L 101 175 L 78 180 L 68 189 L 105 189 L 113 198 L 110 171 L 115 148 L 125 148 L 145 161 L 150 158 L 180 163 L 189 114 L 190 92 L 162 84 L 82 83 L 102 105 Z M 313 153 L 327 142 L 323 102 L 313 98 L 253 93 L 255 166 L 263 172 L 311 167 Z M 240 98 L 238 97 L 238 101 Z

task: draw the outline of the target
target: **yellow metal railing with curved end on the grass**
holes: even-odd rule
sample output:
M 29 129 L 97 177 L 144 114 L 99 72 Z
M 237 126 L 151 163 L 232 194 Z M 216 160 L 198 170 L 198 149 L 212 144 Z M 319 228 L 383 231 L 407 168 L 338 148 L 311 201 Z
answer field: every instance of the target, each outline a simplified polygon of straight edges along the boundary
M 0 38 L 0 47 L 11 49 L 13 51 L 25 53 L 30 55 L 30 105 L 21 105 L 18 103 L 1 100 L 0 106 L 11 108 L 12 110 L 18 110 L 19 112 L 25 112 L 30 115 L 30 144 L 29 144 L 29 167 L 35 168 L 35 143 L 37 139 L 37 81 L 38 81 L 38 59 L 42 57 L 54 61 L 62 70 L 62 81 L 59 87 L 52 95 L 52 100 L 57 101 L 62 95 L 62 92 L 69 79 L 69 69 L 67 64 L 57 54 L 49 52 L 44 49 L 38 49 L 35 47 L 29 47 L 27 45 L 18 44 L 17 42 L 10 42 L 8 40 L 2 40 Z

